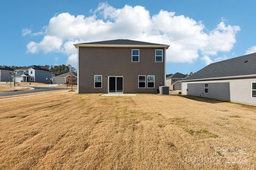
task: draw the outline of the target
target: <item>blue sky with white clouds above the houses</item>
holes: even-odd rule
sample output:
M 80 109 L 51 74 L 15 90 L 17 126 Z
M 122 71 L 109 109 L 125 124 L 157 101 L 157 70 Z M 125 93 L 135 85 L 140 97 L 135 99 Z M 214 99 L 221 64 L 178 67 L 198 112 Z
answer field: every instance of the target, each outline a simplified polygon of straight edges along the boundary
M 99 4 L 102 3 L 104 5 L 101 5 L 102 8 L 99 8 Z M 121 19 L 124 22 L 125 20 L 130 21 L 129 17 L 133 17 L 126 17 L 124 15 L 123 18 L 118 18 L 118 9 L 125 10 L 125 5 L 130 6 L 130 8 L 126 7 L 126 10 L 137 12 L 139 10 L 139 13 L 143 14 L 142 16 L 144 16 L 145 11 L 148 12 L 150 16 L 149 21 L 154 22 L 154 24 L 150 26 L 142 25 L 147 24 L 146 20 L 142 17 L 142 21 L 145 21 L 145 23 L 138 20 L 138 32 L 136 30 L 129 32 L 130 30 L 128 29 L 126 34 L 125 30 L 123 30 L 119 32 L 119 38 L 132 37 L 133 39 L 152 41 L 159 37 L 156 43 L 171 42 L 171 49 L 167 51 L 169 54 L 169 62 L 167 62 L 166 67 L 167 73 L 196 72 L 211 62 L 244 55 L 249 48 L 256 45 L 256 22 L 253 19 L 255 15 L 255 1 L 158 0 L 157 3 L 155 1 L 2 1 L 0 4 L 0 65 L 54 65 L 66 63 L 74 65 L 75 51 L 73 52 L 70 47 L 64 47 L 64 44 L 67 42 L 71 44 L 72 41 L 105 40 L 108 37 L 110 37 L 108 39 L 111 39 L 111 37 L 118 38 L 118 35 L 113 36 L 113 30 L 116 28 L 122 29 L 122 25 L 118 21 Z M 139 8 L 136 10 L 134 6 L 142 6 L 144 9 Z M 171 13 L 169 12 L 175 12 L 175 15 L 169 15 L 168 18 L 166 15 L 159 14 L 161 10 L 166 11 L 165 14 L 170 15 Z M 78 33 L 74 37 L 72 37 L 72 34 L 65 37 L 65 33 L 68 33 L 65 32 L 66 28 L 61 27 L 62 23 L 60 21 L 62 20 L 58 20 L 56 23 L 49 23 L 51 18 L 62 16 L 59 15 L 62 13 L 68 13 L 70 17 L 74 15 L 74 22 L 81 21 L 78 20 L 77 15 L 84 15 L 85 18 L 95 15 L 95 21 L 101 20 L 104 22 L 103 24 L 101 23 L 102 26 L 100 28 L 98 25 L 92 29 L 92 31 L 98 31 L 96 35 L 99 36 L 92 35 L 90 31 L 87 31 L 81 33 L 81 35 Z M 152 19 L 153 15 L 158 16 L 157 21 Z M 175 16 L 178 17 L 175 18 Z M 137 21 L 137 18 L 133 17 L 133 19 Z M 163 22 L 159 21 L 164 19 L 170 20 L 169 25 L 164 25 Z M 111 23 L 109 24 L 108 21 Z M 193 24 L 193 21 L 196 23 Z M 94 21 L 90 22 L 93 25 Z M 185 25 L 184 27 L 186 28 L 179 29 L 177 23 L 181 22 L 184 22 L 182 25 Z M 217 29 L 218 24 L 221 22 L 225 25 Z M 76 28 L 73 27 L 74 25 L 69 26 Z M 86 23 L 82 27 L 87 27 Z M 103 27 L 113 28 L 105 31 L 102 29 Z M 128 27 L 133 27 L 133 25 Z M 134 25 L 134 27 L 137 26 Z M 201 27 L 203 27 L 203 30 L 198 31 L 197 29 Z M 169 31 L 169 28 L 171 31 Z M 178 28 L 178 30 L 174 28 Z M 90 30 L 90 28 L 88 29 Z M 194 30 L 194 32 L 187 33 L 190 30 Z M 62 31 L 64 32 L 62 33 Z M 144 37 L 140 37 L 141 35 Z M 147 35 L 149 38 L 145 37 Z M 47 36 L 55 37 L 53 40 L 49 39 L 49 41 L 54 43 L 50 47 L 41 43 Z M 167 40 L 165 41 L 166 37 Z M 194 39 L 195 43 L 189 42 L 192 42 Z M 200 40 L 198 44 L 197 39 Z M 31 42 L 34 42 L 34 44 Z M 29 43 L 31 43 L 30 47 L 27 47 Z M 209 45 L 205 46 L 205 43 Z M 191 50 L 187 51 L 186 48 L 191 48 Z M 252 48 L 250 52 L 254 52 L 254 50 Z

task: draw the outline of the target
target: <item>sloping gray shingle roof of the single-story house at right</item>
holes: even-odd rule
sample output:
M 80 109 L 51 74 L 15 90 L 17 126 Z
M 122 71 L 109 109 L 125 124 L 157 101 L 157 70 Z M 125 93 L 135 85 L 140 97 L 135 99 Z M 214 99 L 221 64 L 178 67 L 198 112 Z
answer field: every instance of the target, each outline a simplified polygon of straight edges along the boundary
M 212 63 L 182 81 L 256 75 L 256 53 Z

